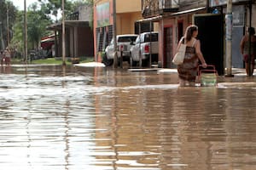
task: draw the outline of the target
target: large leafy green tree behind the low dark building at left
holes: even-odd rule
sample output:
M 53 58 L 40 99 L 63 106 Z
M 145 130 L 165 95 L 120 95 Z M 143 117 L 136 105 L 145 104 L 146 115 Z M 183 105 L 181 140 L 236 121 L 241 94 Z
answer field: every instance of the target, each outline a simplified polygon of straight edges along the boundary
M 0 0 L 1 3 L 4 0 Z M 53 24 L 53 16 L 57 22 L 58 14 L 61 13 L 61 0 L 38 0 L 27 9 L 27 37 L 28 50 L 38 48 L 41 37 L 48 36 L 51 31 L 47 31 L 47 26 Z M 93 4 L 93 0 L 72 1 L 65 0 L 65 14 L 72 14 L 81 4 Z M 2 10 L 0 10 L 0 14 Z M 24 47 L 24 11 L 18 11 L 16 14 L 15 26 L 13 26 L 14 37 L 12 45 L 22 54 Z M 1 17 L 1 16 L 0 16 Z M 1 18 L 0 18 L 1 19 Z

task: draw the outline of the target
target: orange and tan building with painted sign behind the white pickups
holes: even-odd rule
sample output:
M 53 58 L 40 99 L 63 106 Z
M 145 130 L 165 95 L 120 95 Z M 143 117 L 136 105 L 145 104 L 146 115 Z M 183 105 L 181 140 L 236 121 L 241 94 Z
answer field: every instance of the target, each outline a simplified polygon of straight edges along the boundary
M 116 35 L 133 34 L 137 20 L 142 19 L 141 0 L 115 0 Z M 94 1 L 94 53 L 102 60 L 102 52 L 113 38 L 113 0 Z

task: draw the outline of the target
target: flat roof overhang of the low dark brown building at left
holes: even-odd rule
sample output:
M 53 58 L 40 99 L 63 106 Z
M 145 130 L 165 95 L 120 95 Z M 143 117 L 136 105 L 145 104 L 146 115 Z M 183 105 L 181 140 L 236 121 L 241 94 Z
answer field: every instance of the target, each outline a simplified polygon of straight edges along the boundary
M 65 20 L 64 24 L 66 28 L 89 27 L 89 21 L 82 21 L 82 20 Z M 52 30 L 52 31 L 62 30 L 62 22 L 47 26 L 47 30 Z

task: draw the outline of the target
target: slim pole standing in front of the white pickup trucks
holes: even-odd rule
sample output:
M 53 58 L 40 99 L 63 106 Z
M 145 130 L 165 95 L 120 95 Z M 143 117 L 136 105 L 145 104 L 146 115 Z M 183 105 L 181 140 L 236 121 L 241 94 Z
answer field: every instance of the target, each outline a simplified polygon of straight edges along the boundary
M 116 42 L 116 2 L 113 0 L 113 68 L 118 67 L 117 42 Z

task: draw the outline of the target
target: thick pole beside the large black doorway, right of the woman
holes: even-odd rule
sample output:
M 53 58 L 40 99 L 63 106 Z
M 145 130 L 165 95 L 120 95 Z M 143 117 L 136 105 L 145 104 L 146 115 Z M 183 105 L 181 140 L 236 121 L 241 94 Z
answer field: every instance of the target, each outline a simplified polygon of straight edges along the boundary
M 234 77 L 232 75 L 232 27 L 233 27 L 233 15 L 232 15 L 232 0 L 227 1 L 227 14 L 226 20 L 226 68 L 227 74 L 225 77 Z

